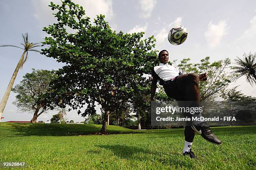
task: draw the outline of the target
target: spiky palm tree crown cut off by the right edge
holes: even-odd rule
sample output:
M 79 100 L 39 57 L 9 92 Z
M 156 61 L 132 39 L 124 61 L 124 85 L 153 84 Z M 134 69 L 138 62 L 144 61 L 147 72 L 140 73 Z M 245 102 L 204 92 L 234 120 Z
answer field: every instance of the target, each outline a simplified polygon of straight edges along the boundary
M 251 54 L 250 52 L 248 55 L 244 53 L 243 56 L 245 57 L 243 60 L 238 57 L 235 59 L 238 66 L 232 67 L 235 70 L 233 72 L 238 74 L 236 80 L 245 75 L 246 81 L 253 85 L 256 83 L 256 53 Z

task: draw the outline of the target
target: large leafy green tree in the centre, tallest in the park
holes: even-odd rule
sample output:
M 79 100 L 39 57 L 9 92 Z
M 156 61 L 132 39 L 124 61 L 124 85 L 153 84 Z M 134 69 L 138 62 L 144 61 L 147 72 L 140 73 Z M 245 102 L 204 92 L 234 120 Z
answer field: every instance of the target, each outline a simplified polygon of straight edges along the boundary
M 94 24 L 85 16 L 83 7 L 65 0 L 61 5 L 51 2 L 57 23 L 45 27 L 42 54 L 67 63 L 57 71 L 51 92 L 42 95 L 48 103 L 80 109 L 82 116 L 95 114 L 95 104 L 104 112 L 101 133 L 107 133 L 108 114 L 114 107 L 113 90 L 130 98 L 137 82 L 150 81 L 150 67 L 156 65 L 155 38 L 143 40 L 144 32 L 125 34 L 111 30 L 104 15 L 97 15 Z M 67 27 L 75 33 L 68 33 Z

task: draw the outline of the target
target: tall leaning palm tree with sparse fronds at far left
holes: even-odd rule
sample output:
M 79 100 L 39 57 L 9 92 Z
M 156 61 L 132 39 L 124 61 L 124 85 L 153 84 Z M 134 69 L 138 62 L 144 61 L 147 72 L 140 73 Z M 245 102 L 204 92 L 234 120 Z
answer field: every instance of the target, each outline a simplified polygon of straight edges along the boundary
M 18 74 L 18 71 L 23 67 L 23 64 L 26 62 L 27 58 L 28 58 L 28 51 L 35 51 L 35 52 L 40 52 L 39 50 L 35 50 L 33 49 L 34 47 L 39 47 L 41 45 L 38 45 L 39 43 L 33 43 L 33 42 L 29 42 L 28 41 L 28 33 L 26 33 L 25 35 L 22 34 L 22 37 L 23 37 L 23 40 L 24 40 L 24 44 L 22 43 L 21 45 L 23 47 L 17 47 L 15 45 L 0 45 L 0 47 L 17 47 L 17 48 L 20 48 L 23 51 L 21 57 L 20 57 L 20 61 L 18 62 L 14 72 L 13 72 L 13 76 L 9 82 L 9 85 L 7 87 L 7 90 L 5 91 L 5 94 L 3 95 L 3 99 L 1 100 L 1 103 L 0 103 L 0 117 L 2 116 L 3 114 L 3 110 L 5 109 L 5 105 L 7 103 L 7 100 L 9 98 L 9 95 L 10 95 L 10 91 L 13 87 L 13 83 L 15 81 L 15 78 Z M 0 122 L 1 122 L 1 119 L 0 119 Z

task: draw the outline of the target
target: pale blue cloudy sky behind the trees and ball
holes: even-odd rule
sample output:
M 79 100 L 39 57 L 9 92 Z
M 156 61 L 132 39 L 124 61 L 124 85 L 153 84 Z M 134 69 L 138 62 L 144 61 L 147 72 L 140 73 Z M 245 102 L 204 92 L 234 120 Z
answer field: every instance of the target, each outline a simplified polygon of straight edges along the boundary
M 22 34 L 28 32 L 30 42 L 42 42 L 47 36 L 43 27 L 56 23 L 53 11 L 48 5 L 60 0 L 0 0 L 0 45 L 19 46 Z M 82 5 L 86 15 L 95 18 L 103 14 L 113 30 L 127 33 L 145 32 L 144 37 L 156 37 L 156 50 L 169 51 L 169 60 L 191 58 L 200 62 L 210 56 L 210 61 L 226 57 L 234 62 L 243 53 L 256 52 L 256 1 L 255 0 L 74 0 Z M 93 21 L 93 20 L 92 20 Z M 188 30 L 187 40 L 182 45 L 171 45 L 167 35 L 177 24 Z M 10 77 L 20 59 L 22 50 L 14 47 L 0 47 L 0 98 L 8 86 Z M 19 70 L 15 80 L 18 84 L 31 69 L 56 70 L 64 64 L 52 58 L 30 52 L 28 60 Z M 239 85 L 245 95 L 256 97 L 256 86 L 246 82 L 245 77 L 230 83 L 230 88 Z M 11 92 L 3 112 L 2 121 L 30 121 L 32 113 L 20 112 L 15 105 L 15 93 Z M 51 119 L 58 111 L 43 113 L 38 120 Z M 100 109 L 97 107 L 97 113 Z M 67 120 L 84 121 L 76 110 L 67 113 Z M 49 121 L 48 121 L 49 122 Z

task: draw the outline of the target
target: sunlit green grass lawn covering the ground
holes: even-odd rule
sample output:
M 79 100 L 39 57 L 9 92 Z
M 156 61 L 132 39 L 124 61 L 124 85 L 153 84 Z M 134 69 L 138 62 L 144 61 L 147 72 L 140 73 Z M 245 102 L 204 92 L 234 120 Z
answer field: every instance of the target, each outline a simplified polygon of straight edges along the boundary
M 129 130 L 108 126 L 112 135 L 89 135 L 101 125 L 0 123 L 0 161 L 26 169 L 256 169 L 256 126 L 212 128 L 223 141 L 195 136 L 199 160 L 182 155 L 184 129 Z M 20 169 L 20 168 L 17 168 Z

